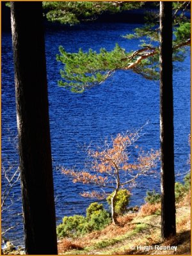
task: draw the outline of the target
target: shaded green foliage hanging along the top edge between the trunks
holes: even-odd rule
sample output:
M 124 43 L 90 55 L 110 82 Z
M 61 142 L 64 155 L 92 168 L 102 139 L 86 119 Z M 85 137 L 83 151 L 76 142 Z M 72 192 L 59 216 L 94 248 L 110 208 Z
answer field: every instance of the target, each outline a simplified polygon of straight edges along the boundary
M 108 1 L 44 1 L 47 20 L 70 26 L 81 21 L 95 20 L 102 13 L 116 13 L 143 6 L 143 2 Z

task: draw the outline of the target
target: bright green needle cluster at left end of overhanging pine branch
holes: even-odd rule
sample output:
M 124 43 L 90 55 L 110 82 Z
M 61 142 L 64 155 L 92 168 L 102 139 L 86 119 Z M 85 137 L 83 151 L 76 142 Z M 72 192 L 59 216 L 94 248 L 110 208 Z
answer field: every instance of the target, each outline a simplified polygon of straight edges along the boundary
M 92 49 L 88 52 L 79 49 L 79 52 L 70 53 L 60 46 L 60 55 L 56 56 L 56 60 L 65 64 L 63 70 L 60 70 L 63 80 L 58 84 L 79 93 L 102 83 L 113 70 L 121 69 L 129 62 L 125 49 L 118 44 L 113 51 L 101 48 L 99 53 Z

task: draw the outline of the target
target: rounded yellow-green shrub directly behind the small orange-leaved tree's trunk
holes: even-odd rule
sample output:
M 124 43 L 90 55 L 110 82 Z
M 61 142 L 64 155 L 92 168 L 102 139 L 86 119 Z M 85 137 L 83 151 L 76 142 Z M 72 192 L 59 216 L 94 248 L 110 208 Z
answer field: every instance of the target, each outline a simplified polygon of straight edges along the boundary
M 108 204 L 111 205 L 111 197 L 115 192 L 108 196 Z M 115 199 L 115 212 L 116 214 L 124 214 L 127 212 L 127 206 L 129 204 L 131 193 L 127 189 L 120 189 L 116 194 Z

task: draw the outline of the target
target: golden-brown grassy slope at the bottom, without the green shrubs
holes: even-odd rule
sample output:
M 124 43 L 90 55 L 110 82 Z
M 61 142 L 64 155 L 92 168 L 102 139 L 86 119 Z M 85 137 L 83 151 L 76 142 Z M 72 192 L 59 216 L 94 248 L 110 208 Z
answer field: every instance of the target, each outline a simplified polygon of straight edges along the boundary
M 145 204 L 138 213 L 118 218 L 108 225 L 76 239 L 58 243 L 64 255 L 191 255 L 191 197 L 187 193 L 177 203 L 177 236 L 161 241 L 161 205 Z M 175 247 L 176 246 L 176 247 Z

